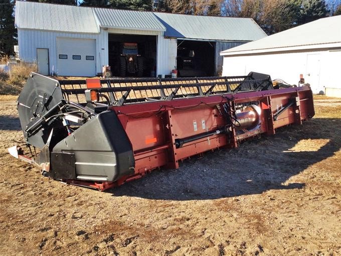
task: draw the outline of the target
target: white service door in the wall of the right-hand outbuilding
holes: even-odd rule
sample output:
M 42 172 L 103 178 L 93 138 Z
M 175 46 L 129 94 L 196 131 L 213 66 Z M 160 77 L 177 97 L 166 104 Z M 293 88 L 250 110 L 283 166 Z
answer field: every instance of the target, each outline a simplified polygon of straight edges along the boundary
M 320 54 L 307 54 L 305 82 L 310 84 L 312 93 L 316 94 L 324 91 L 319 84 L 320 67 Z

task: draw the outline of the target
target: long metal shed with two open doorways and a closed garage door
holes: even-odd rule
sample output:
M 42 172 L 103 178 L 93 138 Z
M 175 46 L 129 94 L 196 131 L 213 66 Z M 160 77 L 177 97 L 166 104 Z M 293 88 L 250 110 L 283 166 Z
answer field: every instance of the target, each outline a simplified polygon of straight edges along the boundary
M 103 65 L 110 65 L 116 75 L 122 45 L 134 44 L 145 60 L 144 76 L 170 75 L 178 69 L 179 56 L 189 52 L 195 52 L 194 70 L 212 76 L 221 74 L 222 50 L 266 37 L 247 18 L 26 1 L 17 1 L 15 12 L 20 58 L 36 62 L 45 75 L 95 76 Z

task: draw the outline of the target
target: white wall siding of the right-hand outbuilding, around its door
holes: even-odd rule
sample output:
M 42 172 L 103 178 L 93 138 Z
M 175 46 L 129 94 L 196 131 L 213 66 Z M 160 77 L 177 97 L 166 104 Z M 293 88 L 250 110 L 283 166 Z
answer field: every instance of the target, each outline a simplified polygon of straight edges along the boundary
M 307 55 L 320 55 L 320 71 L 319 84 L 312 84 L 307 73 Z M 249 72 L 259 72 L 271 75 L 272 79 L 283 79 L 289 84 L 296 84 L 299 81 L 299 75 L 303 74 L 306 83 L 310 83 L 314 93 L 318 93 L 324 88 L 339 88 L 341 85 L 338 82 L 339 66 L 341 58 L 341 45 L 337 51 L 304 51 L 287 52 L 274 54 L 259 54 L 259 55 L 241 55 L 241 56 L 225 56 L 223 66 L 223 76 L 247 75 Z M 317 89 L 316 89 L 317 88 Z

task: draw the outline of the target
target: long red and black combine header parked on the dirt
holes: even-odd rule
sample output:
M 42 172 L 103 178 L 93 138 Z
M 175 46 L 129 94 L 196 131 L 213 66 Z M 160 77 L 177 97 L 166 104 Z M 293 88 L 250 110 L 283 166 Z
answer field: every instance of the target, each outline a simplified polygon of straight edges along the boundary
M 314 115 L 309 87 L 274 89 L 270 76 L 254 72 L 86 81 L 31 73 L 18 111 L 31 154 L 31 146 L 40 153 L 31 158 L 15 146 L 13 156 L 101 191 Z

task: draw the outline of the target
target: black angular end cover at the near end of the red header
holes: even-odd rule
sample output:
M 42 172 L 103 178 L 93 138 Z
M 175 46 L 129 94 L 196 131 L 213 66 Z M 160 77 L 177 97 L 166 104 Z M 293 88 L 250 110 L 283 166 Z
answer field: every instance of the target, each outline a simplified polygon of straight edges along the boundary
M 134 174 L 135 161 L 132 147 L 113 111 L 97 114 L 60 141 L 52 152 L 75 155 L 77 179 L 116 181 L 122 176 Z M 51 154 L 51 157 L 54 157 L 54 154 Z M 53 159 L 51 164 L 51 173 L 55 168 L 63 167 L 63 162 Z

